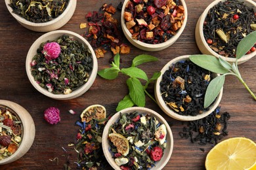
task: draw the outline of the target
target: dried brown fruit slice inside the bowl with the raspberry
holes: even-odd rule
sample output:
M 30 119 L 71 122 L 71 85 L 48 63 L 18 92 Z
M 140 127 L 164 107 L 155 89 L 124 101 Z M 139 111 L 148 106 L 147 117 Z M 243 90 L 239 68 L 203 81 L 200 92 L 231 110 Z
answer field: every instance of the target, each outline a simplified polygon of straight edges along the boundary
M 116 146 L 117 152 L 123 156 L 129 154 L 129 141 L 119 133 L 110 133 L 108 135 L 110 141 Z

